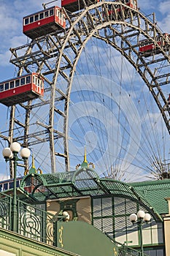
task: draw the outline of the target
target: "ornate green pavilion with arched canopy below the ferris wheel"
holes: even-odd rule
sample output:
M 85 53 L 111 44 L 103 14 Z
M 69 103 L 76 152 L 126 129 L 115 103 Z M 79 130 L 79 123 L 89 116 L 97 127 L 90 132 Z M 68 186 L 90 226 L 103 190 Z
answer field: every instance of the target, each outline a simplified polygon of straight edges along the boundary
M 16 231 L 22 239 L 82 256 L 104 255 L 106 248 L 107 255 L 142 255 L 139 224 L 129 220 L 142 210 L 152 217 L 142 224 L 144 253 L 165 255 L 169 179 L 126 184 L 99 177 L 86 161 L 72 172 L 42 174 L 33 165 L 25 174 L 17 188 Z M 8 189 L 0 197 L 0 225 L 7 232 L 12 230 L 12 195 Z

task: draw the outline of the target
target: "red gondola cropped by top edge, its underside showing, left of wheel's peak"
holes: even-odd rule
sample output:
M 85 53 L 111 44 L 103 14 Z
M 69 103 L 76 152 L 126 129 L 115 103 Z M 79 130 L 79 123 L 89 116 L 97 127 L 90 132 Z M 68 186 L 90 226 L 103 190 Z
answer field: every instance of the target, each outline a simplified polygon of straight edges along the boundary
M 87 6 L 91 4 L 96 4 L 100 0 L 85 0 Z M 61 0 L 61 7 L 64 7 L 69 12 L 77 12 L 82 10 L 85 7 L 85 4 L 82 0 Z

